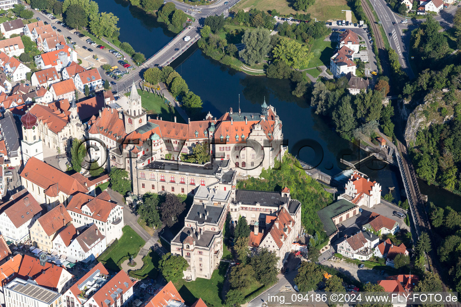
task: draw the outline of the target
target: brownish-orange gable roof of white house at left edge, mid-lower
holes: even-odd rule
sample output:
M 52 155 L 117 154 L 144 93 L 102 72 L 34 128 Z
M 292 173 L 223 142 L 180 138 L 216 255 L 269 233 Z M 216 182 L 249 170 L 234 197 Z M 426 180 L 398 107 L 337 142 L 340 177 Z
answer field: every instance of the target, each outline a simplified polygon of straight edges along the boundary
M 11 200 L 0 207 L 0 212 L 5 212 L 16 228 L 32 220 L 35 214 L 41 212 L 40 204 L 35 198 L 23 189 L 12 195 Z

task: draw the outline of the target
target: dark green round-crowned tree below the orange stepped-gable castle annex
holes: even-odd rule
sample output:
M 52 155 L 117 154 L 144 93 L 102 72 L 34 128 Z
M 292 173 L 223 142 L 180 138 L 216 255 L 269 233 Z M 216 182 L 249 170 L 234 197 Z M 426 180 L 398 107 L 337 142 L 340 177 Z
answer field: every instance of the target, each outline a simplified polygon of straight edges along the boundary
M 251 257 L 251 266 L 254 268 L 256 280 L 260 284 L 271 285 L 277 282 L 278 260 L 275 252 L 266 247 L 258 248 Z

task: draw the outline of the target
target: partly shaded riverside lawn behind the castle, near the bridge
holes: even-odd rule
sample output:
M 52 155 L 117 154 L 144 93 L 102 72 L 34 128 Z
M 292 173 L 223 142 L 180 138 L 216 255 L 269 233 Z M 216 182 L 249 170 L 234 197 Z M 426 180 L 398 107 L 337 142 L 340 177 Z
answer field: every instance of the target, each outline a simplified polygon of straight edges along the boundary
M 183 117 L 179 115 L 174 107 L 169 107 L 164 103 L 163 98 L 158 96 L 155 93 L 152 93 L 152 89 L 145 87 L 145 91 L 142 92 L 141 89 L 138 89 L 138 93 L 141 95 L 141 105 L 144 109 L 148 110 L 148 114 L 159 115 L 159 118 L 166 121 L 174 121 L 174 116 L 176 116 L 177 122 L 184 123 Z M 149 91 L 147 91 L 147 89 Z M 130 96 L 130 93 L 125 93 L 125 96 Z M 171 110 L 173 109 L 173 110 Z

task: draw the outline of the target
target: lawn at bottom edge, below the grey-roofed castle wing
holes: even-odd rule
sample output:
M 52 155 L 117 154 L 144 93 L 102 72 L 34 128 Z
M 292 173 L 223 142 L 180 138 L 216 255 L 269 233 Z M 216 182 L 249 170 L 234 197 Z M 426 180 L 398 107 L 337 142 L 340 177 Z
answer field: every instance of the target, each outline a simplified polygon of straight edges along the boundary
M 211 279 L 197 278 L 189 282 L 181 279 L 174 285 L 188 306 L 191 306 L 199 297 L 208 306 L 223 306 L 221 290 L 224 283 L 224 274 L 228 266 L 229 263 L 221 262 L 219 268 L 213 271 Z

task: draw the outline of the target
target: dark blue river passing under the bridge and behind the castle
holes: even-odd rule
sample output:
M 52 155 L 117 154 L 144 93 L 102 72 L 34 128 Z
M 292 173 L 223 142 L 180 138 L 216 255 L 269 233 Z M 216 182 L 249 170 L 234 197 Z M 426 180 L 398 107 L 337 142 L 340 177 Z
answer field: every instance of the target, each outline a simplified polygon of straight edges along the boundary
M 146 58 L 152 56 L 164 46 L 174 33 L 166 29 L 164 23 L 142 10 L 130 6 L 123 0 L 96 0 L 100 12 L 112 12 L 119 17 L 120 41 L 129 42 Z M 181 63 L 182 62 L 182 63 Z M 339 159 L 349 161 L 363 157 L 358 149 L 342 139 L 328 122 L 329 119 L 313 112 L 305 98 L 297 98 L 291 94 L 294 89 L 287 80 L 270 79 L 264 76 L 250 76 L 233 70 L 205 56 L 196 45 L 189 48 L 178 58 L 173 67 L 182 75 L 189 90 L 199 95 L 203 101 L 203 110 L 210 111 L 213 116 L 220 117 L 232 107 L 239 107 L 243 112 L 258 112 L 266 99 L 273 105 L 283 122 L 284 139 L 288 142 L 289 151 L 301 160 L 317 166 L 331 176 L 343 170 Z M 304 146 L 311 146 L 304 147 Z M 303 148 L 301 148 L 303 147 Z M 298 149 L 301 148 L 299 151 Z M 402 180 L 397 167 L 386 163 L 361 163 L 360 171 L 382 186 L 383 195 L 392 191 L 394 202 L 402 199 L 404 194 Z M 343 178 L 345 179 L 345 178 Z M 420 183 L 421 185 L 421 183 Z M 439 192 L 453 204 L 461 203 L 458 197 L 448 191 L 439 191 L 435 186 L 428 188 L 421 185 L 423 194 L 429 194 L 429 200 L 437 199 Z M 451 195 L 451 196 L 450 196 Z M 445 198 L 445 197 L 444 197 Z M 454 208 L 455 209 L 455 208 Z M 457 208 L 458 209 L 458 208 Z M 461 210 L 461 208 L 459 208 Z

